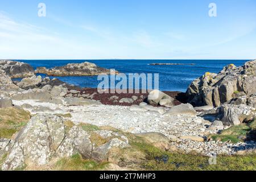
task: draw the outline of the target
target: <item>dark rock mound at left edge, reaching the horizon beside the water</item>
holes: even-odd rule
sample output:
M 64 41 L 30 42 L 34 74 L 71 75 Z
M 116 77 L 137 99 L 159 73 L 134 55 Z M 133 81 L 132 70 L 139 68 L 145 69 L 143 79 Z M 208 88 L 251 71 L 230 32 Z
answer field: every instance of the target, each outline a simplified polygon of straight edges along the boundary
M 35 75 L 31 65 L 18 61 L 0 60 L 0 69 L 5 71 L 11 78 L 24 78 Z

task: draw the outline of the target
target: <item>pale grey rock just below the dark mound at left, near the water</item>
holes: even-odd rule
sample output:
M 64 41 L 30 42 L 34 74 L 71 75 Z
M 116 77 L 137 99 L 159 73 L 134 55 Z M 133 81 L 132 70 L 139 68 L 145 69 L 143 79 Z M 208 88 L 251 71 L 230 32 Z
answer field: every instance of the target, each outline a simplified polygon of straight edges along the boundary
M 32 76 L 23 78 L 20 82 L 18 82 L 18 86 L 22 89 L 34 89 L 39 86 L 42 82 L 41 76 Z

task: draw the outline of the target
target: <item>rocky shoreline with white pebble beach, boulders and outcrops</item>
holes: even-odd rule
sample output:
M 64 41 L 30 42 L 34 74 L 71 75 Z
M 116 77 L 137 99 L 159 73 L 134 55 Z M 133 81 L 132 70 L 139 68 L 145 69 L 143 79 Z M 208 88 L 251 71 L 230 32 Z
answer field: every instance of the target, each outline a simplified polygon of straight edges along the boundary
M 20 71 L 17 65 L 27 69 Z M 81 70 L 85 71 L 80 66 L 72 69 L 72 73 L 67 73 L 67 67 L 48 72 L 81 75 Z M 84 75 L 100 74 L 102 69 L 86 69 Z M 35 75 L 42 70 L 31 70 L 30 65 L 16 61 L 0 61 L 0 111 L 15 108 L 31 116 L 9 138 L 3 138 L 7 135 L 0 130 L 0 159 L 6 156 L 2 170 L 22 168 L 25 164 L 43 166 L 53 158 L 76 153 L 84 159 L 109 161 L 114 148 L 131 147 L 131 136 L 144 138 L 166 151 L 204 156 L 255 150 L 254 138 L 232 143 L 211 136 L 255 120 L 256 60 L 239 68 L 228 65 L 217 75 L 205 73 L 192 82 L 187 93 L 152 90 L 145 94 L 99 94 L 97 89 Z M 24 78 L 11 80 L 18 76 Z M 5 129 L 5 125 L 0 125 L 0 129 Z M 251 132 L 254 134 L 254 130 Z

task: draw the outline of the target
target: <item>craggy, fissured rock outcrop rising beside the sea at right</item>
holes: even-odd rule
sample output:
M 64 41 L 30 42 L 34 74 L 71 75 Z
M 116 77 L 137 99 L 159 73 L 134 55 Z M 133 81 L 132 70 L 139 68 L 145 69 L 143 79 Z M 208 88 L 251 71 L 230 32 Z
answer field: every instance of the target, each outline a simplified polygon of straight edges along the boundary
M 205 73 L 187 89 L 188 102 L 192 105 L 220 106 L 239 94 L 250 96 L 256 93 L 256 60 L 242 67 L 230 64 L 218 74 Z

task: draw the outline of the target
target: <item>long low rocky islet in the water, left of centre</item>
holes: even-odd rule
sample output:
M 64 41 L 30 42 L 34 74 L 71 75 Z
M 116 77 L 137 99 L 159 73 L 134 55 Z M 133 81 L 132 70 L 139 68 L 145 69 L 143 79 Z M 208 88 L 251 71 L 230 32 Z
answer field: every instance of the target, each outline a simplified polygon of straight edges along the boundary
M 36 73 L 43 73 L 48 76 L 91 76 L 110 74 L 109 69 L 98 67 L 96 64 L 84 62 L 84 63 L 71 63 L 64 65 L 63 67 L 55 67 L 47 69 L 45 67 L 36 68 Z M 115 72 L 117 73 L 117 72 Z

